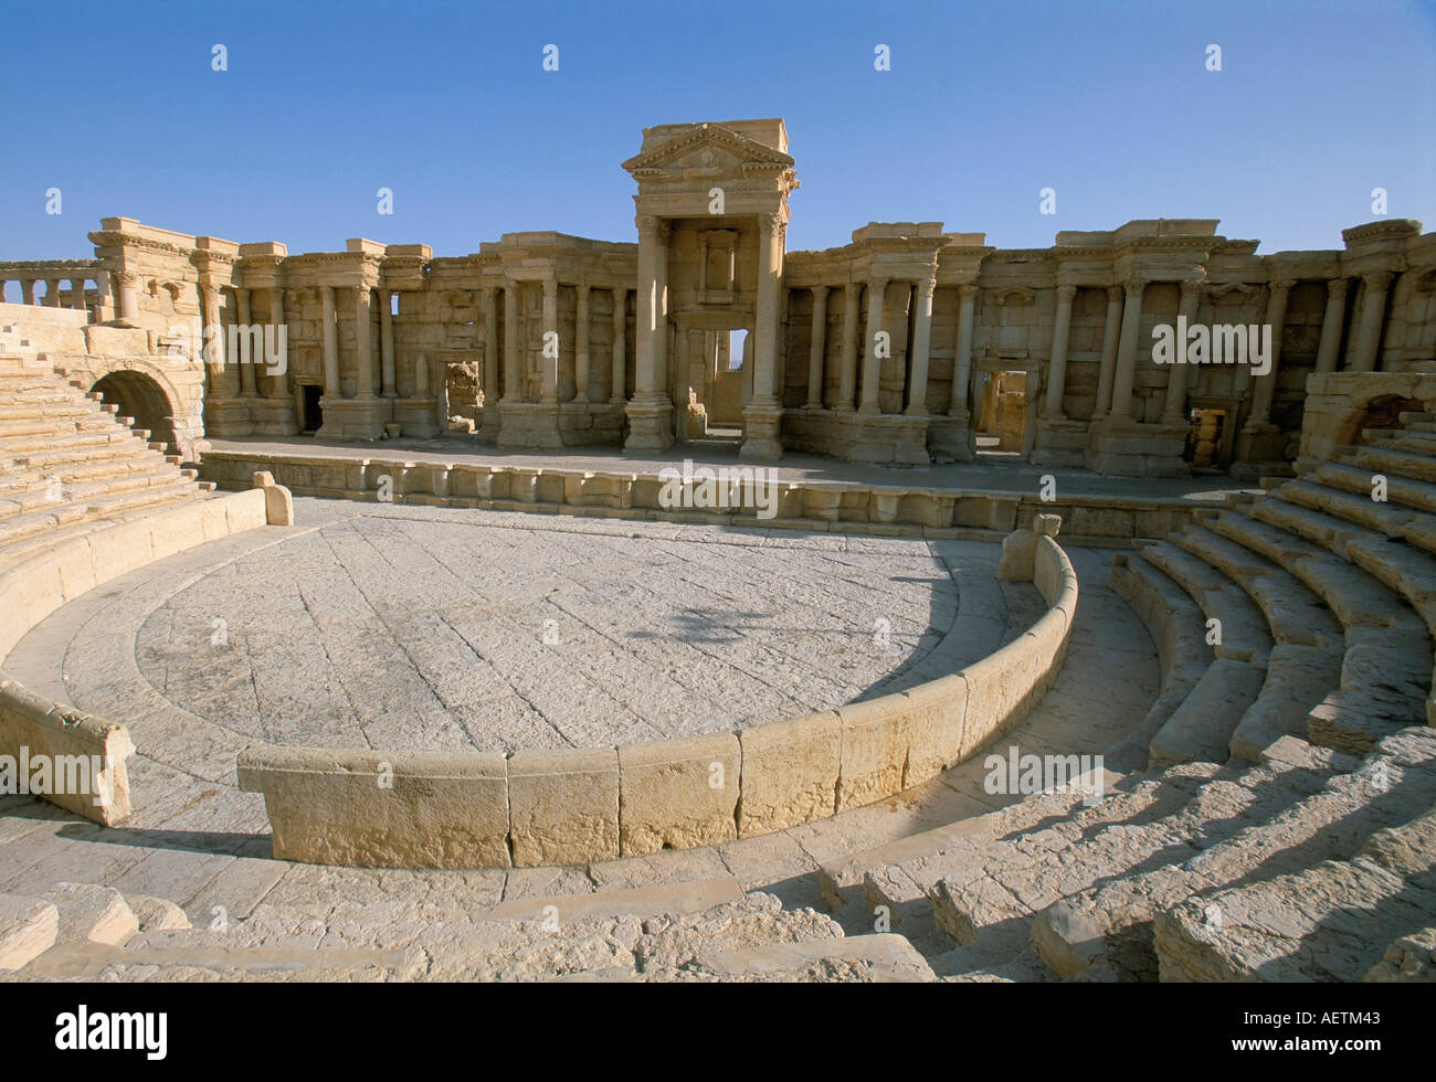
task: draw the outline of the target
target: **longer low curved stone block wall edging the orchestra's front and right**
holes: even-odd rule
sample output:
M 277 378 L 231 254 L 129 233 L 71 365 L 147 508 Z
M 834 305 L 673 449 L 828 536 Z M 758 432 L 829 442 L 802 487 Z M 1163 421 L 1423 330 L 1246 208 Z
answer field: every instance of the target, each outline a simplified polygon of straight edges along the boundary
M 1025 532 L 1025 531 L 1024 531 Z M 363 867 L 586 864 L 770 834 L 885 799 L 999 736 L 1061 667 L 1077 575 L 1035 538 L 1048 608 L 958 673 L 738 733 L 622 748 L 385 753 L 256 746 L 274 855 Z

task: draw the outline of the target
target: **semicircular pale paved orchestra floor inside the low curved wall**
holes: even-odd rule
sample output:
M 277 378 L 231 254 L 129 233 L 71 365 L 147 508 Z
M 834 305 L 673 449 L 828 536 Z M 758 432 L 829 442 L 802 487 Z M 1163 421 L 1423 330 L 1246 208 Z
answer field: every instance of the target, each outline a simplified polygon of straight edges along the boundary
M 511 752 L 729 732 L 863 697 L 956 616 L 923 541 L 714 545 L 691 527 L 516 531 L 319 499 L 297 521 L 317 528 L 168 597 L 135 646 L 175 706 L 276 743 Z

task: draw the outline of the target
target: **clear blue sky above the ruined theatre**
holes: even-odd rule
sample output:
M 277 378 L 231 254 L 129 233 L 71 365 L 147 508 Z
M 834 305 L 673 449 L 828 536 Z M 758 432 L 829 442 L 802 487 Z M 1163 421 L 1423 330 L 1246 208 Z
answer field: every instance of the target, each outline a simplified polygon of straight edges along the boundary
M 7 4 L 0 100 L 0 260 L 90 255 L 108 215 L 292 253 L 633 240 L 640 129 L 748 116 L 787 121 L 790 250 L 867 221 L 1045 247 L 1156 217 L 1338 248 L 1374 187 L 1436 228 L 1433 0 L 67 0 Z

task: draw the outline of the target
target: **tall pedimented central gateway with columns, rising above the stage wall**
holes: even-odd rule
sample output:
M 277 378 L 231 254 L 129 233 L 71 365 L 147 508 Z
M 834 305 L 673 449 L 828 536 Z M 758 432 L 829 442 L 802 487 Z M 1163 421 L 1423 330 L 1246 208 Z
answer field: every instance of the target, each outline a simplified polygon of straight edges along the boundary
M 709 372 L 727 356 L 722 331 L 748 330 L 741 455 L 783 453 L 778 304 L 788 192 L 798 187 L 787 149 L 781 119 L 669 123 L 645 128 L 638 156 L 623 162 L 638 182 L 635 387 L 625 449 L 663 451 L 686 433 L 695 370 Z

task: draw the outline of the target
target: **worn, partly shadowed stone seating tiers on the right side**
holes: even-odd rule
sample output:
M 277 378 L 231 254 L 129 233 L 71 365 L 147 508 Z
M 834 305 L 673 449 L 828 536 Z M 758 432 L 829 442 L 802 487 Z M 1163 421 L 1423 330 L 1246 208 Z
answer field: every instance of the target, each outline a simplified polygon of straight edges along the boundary
M 1114 557 L 1163 693 L 1109 749 L 1126 775 L 1104 799 L 1047 792 L 850 855 L 830 904 L 862 870 L 864 907 L 956 944 L 935 959 L 954 979 L 1394 979 L 1389 947 L 1425 973 L 1436 425 L 1403 422 Z

